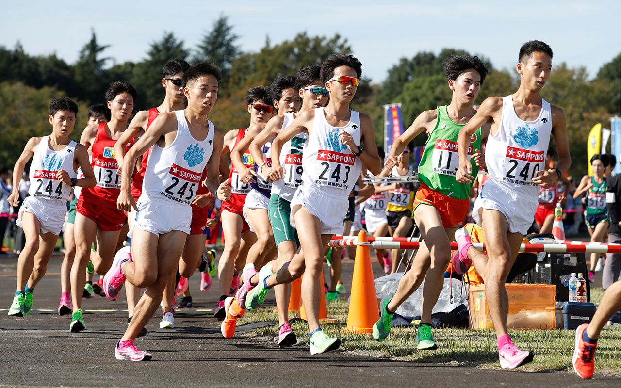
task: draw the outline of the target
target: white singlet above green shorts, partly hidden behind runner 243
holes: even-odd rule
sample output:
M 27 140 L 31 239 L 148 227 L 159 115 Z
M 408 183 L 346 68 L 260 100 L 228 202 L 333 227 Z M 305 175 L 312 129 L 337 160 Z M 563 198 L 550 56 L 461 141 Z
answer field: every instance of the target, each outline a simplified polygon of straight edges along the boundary
M 283 130 L 293 122 L 293 113 L 284 114 Z M 273 194 L 278 195 L 285 201 L 291 202 L 297 186 L 302 184 L 302 152 L 309 135 L 301 132 L 284 143 L 280 152 L 280 165 L 284 168 L 284 177 L 280 181 L 272 183 Z

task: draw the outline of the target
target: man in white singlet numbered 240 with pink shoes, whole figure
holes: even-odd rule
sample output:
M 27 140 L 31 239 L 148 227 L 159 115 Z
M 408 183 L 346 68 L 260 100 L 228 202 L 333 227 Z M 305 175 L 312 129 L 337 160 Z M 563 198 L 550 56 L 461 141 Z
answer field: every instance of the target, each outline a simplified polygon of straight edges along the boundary
M 485 163 L 489 179 L 474 203 L 473 218 L 483 226 L 487 255 L 477 251 L 468 231 L 460 229 L 455 238 L 460 248 L 453 268 L 461 272 L 470 263 L 483 274 L 486 298 L 496 329 L 502 368 L 514 369 L 533 359 L 530 351 L 520 351 L 507 334 L 508 300 L 504 284 L 515 261 L 524 233 L 533 222 L 539 186 L 551 187 L 571 165 L 563 109 L 542 99 L 540 91 L 552 67 L 552 50 L 546 43 L 532 40 L 520 48 L 520 87 L 506 97 L 488 97 L 458 138 L 460 166 L 457 181 L 470 183 L 468 161 L 471 135 L 491 122 Z M 554 136 L 559 160 L 555 169 L 545 166 L 545 155 Z

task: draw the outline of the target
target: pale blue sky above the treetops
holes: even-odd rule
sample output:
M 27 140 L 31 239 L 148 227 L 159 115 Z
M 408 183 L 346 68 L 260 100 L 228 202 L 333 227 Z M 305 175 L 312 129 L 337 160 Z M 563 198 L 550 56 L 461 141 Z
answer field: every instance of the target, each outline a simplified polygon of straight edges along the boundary
M 25 5 L 26 4 L 26 5 Z M 86 5 L 88 4 L 88 6 Z M 97 4 L 97 5 L 94 5 Z M 183 4 L 177 6 L 176 4 Z M 294 5 L 292 5 L 294 4 Z M 555 63 L 586 66 L 590 76 L 621 52 L 621 1 L 40 1 L 6 2 L 0 14 L 0 45 L 19 40 L 27 53 L 57 53 L 72 63 L 90 37 L 109 44 L 106 56 L 139 61 L 164 31 L 193 47 L 224 13 L 256 51 L 298 32 L 348 39 L 365 78 L 382 81 L 402 56 L 463 48 L 513 68 L 520 45 L 539 39 L 554 50 Z M 330 5 L 333 4 L 333 5 Z

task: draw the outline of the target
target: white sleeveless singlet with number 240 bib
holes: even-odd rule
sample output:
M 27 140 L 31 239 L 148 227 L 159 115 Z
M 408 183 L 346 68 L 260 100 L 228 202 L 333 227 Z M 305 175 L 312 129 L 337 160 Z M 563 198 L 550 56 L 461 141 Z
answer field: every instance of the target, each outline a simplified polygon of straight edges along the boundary
M 496 135 L 491 133 L 485 147 L 489 179 L 507 191 L 537 200 L 539 185 L 535 173 L 545 169 L 545 155 L 552 132 L 550 103 L 542 99 L 542 110 L 533 121 L 517 117 L 513 97 L 502 97 L 502 117 Z

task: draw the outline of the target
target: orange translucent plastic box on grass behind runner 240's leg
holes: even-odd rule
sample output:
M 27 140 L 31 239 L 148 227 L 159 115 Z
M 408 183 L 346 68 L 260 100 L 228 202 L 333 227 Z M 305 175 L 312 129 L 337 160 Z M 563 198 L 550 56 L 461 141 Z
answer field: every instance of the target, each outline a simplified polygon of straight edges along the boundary
M 509 297 L 507 327 L 514 329 L 553 329 L 556 286 L 553 284 L 505 284 Z M 470 327 L 494 328 L 485 298 L 485 284 L 469 290 Z

